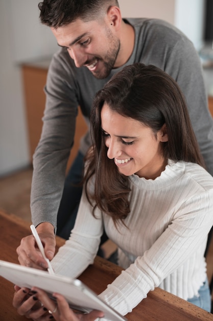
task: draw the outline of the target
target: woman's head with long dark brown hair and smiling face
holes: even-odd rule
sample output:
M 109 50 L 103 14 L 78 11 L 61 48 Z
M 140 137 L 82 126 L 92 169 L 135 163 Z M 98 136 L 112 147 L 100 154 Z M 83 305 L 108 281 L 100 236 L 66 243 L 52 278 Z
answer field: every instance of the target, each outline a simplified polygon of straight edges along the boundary
M 95 154 L 88 177 L 96 173 L 94 199 L 112 216 L 126 217 L 129 211 L 126 176 L 155 179 L 169 159 L 203 166 L 184 97 L 177 83 L 154 66 L 135 64 L 114 75 L 97 94 L 91 121 Z M 105 182 L 114 183 L 108 189 Z

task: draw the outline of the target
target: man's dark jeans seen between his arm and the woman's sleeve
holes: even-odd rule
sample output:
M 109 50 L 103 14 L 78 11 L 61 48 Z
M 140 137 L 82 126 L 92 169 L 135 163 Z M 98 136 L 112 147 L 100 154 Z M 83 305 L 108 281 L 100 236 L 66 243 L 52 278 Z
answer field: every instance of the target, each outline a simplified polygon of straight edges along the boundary
M 57 235 L 65 239 L 69 238 L 70 231 L 74 228 L 79 203 L 82 194 L 82 178 L 84 169 L 84 156 L 78 152 L 73 165 L 66 176 L 61 203 L 57 216 Z M 101 238 L 102 245 L 108 239 L 104 232 Z M 101 250 L 98 252 L 102 255 Z

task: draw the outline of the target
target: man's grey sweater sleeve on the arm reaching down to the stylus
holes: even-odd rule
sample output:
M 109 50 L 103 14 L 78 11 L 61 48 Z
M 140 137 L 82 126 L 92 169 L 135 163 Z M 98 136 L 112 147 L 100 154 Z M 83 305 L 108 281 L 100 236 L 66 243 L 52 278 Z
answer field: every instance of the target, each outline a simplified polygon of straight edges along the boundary
M 53 57 L 45 86 L 41 138 L 33 156 L 32 222 L 51 222 L 56 231 L 66 164 L 73 146 L 78 101 L 72 66 L 66 55 Z

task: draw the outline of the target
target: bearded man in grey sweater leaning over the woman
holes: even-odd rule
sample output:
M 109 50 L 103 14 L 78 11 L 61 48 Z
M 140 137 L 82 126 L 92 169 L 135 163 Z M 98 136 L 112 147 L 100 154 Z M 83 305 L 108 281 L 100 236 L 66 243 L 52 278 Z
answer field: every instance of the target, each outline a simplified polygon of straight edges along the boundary
M 157 19 L 122 19 L 116 0 L 44 0 L 39 9 L 41 22 L 51 28 L 62 47 L 52 59 L 45 87 L 44 123 L 34 155 L 31 198 L 33 224 L 46 256 L 52 259 L 57 212 L 67 158 L 74 142 L 77 108 L 80 106 L 89 127 L 92 98 L 114 73 L 126 65 L 141 62 L 163 69 L 177 81 L 186 97 L 193 128 L 211 175 L 213 124 L 199 57 L 192 43 L 175 27 Z M 73 224 L 70 224 L 74 217 L 70 212 L 78 207 L 81 194 L 80 189 L 77 197 L 74 196 L 73 182 L 78 183 L 82 178 L 83 156 L 89 146 L 88 132 L 65 183 L 58 214 L 61 236 L 65 235 L 64 226 L 68 227 L 69 234 Z M 66 195 L 68 203 L 75 201 L 68 213 L 63 211 L 68 208 L 67 202 L 64 203 Z M 22 239 L 17 253 L 22 265 L 47 267 L 35 251 L 32 236 Z

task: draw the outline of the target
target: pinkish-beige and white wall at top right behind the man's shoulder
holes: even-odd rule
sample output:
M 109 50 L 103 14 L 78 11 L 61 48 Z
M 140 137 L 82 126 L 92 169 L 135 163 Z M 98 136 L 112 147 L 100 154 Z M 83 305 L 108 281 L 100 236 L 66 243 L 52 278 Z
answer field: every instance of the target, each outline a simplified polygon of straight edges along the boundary
M 120 8 L 126 17 L 163 19 L 191 39 L 196 49 L 202 46 L 205 0 L 120 0 Z

